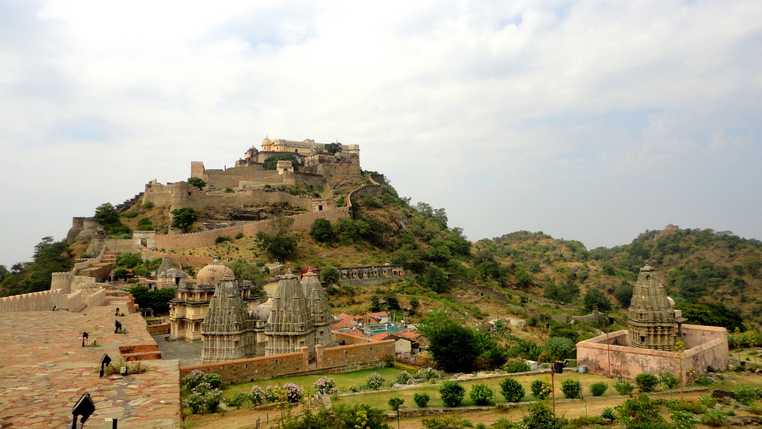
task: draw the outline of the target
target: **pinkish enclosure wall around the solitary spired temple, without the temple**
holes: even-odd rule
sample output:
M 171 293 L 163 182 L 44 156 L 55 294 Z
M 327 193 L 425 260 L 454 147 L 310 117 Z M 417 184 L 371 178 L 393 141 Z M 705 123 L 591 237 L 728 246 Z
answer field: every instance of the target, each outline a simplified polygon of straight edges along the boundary
M 683 325 L 684 338 L 703 343 L 684 353 L 629 347 L 629 331 L 611 332 L 577 343 L 577 362 L 588 372 L 609 373 L 635 378 L 639 373 L 661 373 L 665 370 L 680 373 L 693 368 L 705 373 L 707 367 L 725 370 L 728 367 L 727 330 L 716 326 Z

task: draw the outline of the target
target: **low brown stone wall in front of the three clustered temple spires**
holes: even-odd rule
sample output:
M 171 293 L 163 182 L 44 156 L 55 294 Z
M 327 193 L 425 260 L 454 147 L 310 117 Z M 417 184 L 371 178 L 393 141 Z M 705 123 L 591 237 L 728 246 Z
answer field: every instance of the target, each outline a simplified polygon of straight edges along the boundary
M 298 351 L 295 353 L 181 367 L 180 378 L 182 379 L 182 377 L 187 376 L 194 370 L 201 370 L 204 373 L 219 374 L 219 376 L 223 377 L 223 385 L 228 385 L 280 376 L 300 376 L 312 373 L 344 373 L 347 371 L 386 367 L 388 363 L 386 363 L 386 360 L 383 360 L 383 357 L 386 355 L 393 356 L 394 353 L 394 341 L 371 341 L 364 344 L 329 347 L 323 348 L 320 352 L 316 351 L 318 356 L 315 367 L 310 367 L 309 353 Z

